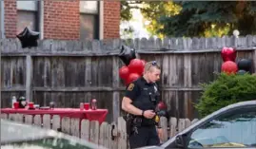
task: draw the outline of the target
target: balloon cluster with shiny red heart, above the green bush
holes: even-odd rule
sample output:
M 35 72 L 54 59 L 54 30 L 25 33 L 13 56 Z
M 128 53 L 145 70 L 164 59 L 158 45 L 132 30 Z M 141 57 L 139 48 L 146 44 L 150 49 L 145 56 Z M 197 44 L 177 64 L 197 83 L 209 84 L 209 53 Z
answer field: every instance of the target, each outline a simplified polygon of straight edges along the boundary
M 222 65 L 222 71 L 226 74 L 245 74 L 251 71 L 251 61 L 248 59 L 241 59 L 237 63 L 236 61 L 237 51 L 233 47 L 222 48 L 222 59 L 224 61 Z

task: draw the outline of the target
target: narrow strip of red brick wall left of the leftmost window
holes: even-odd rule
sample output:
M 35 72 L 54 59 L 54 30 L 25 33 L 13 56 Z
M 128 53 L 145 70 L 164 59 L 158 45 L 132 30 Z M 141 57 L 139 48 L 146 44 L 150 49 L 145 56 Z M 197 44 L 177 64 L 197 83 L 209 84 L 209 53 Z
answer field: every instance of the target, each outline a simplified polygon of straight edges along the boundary
M 17 9 L 16 0 L 4 1 L 5 3 L 5 35 L 7 38 L 16 37 Z

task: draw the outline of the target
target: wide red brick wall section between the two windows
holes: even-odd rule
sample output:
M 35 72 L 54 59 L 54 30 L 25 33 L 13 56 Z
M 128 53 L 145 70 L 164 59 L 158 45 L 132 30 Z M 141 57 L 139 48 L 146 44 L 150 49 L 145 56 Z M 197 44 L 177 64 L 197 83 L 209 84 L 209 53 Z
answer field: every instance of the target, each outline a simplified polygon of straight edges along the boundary
M 79 1 L 45 1 L 44 38 L 79 38 Z

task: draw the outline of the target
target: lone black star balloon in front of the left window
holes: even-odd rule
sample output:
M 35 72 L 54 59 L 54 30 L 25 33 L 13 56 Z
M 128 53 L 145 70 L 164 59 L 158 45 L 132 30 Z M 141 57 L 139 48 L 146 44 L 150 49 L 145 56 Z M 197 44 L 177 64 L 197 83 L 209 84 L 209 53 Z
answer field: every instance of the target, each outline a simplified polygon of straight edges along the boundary
M 16 37 L 20 40 L 22 48 L 37 47 L 37 40 L 39 39 L 39 32 L 32 31 L 30 28 L 24 28 Z

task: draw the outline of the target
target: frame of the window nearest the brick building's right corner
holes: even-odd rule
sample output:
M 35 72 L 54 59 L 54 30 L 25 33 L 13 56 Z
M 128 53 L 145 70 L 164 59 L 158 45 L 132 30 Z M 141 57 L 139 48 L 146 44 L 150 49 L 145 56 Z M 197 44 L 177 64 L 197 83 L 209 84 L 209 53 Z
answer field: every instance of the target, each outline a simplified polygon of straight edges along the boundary
M 97 13 L 93 13 L 93 12 L 83 12 L 83 11 L 80 11 L 80 4 L 79 4 L 79 23 L 81 23 L 80 21 L 80 17 L 81 15 L 91 15 L 93 17 L 95 17 L 95 26 L 96 26 L 96 29 L 94 31 L 94 35 L 95 36 L 93 39 L 91 40 L 99 40 L 100 39 L 100 24 L 101 24 L 101 20 L 100 20 L 100 13 L 101 13 L 101 3 L 100 1 L 96 1 L 97 2 Z M 81 24 L 79 24 L 79 28 L 81 28 Z M 80 34 L 80 37 L 79 39 L 80 40 L 85 40 L 85 39 L 81 39 L 81 32 L 80 32 L 80 29 L 79 29 L 79 34 Z

